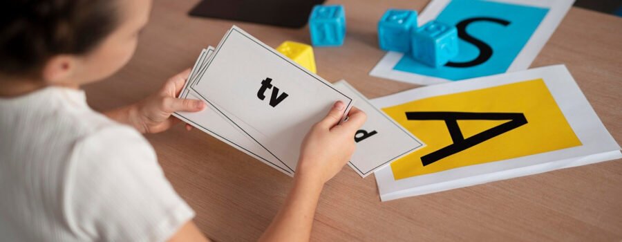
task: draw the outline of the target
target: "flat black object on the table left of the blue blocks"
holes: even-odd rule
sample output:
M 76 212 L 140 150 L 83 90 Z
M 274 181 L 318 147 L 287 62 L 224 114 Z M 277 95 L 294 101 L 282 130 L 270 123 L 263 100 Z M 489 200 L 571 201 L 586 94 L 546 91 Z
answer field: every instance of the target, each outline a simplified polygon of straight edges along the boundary
M 313 6 L 325 0 L 203 0 L 189 15 L 302 28 Z

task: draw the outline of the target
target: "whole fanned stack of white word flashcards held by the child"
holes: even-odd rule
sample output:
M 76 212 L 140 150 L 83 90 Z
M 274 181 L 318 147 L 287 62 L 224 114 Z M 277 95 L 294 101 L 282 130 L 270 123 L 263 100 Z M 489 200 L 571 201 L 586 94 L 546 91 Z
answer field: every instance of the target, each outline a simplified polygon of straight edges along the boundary
M 208 108 L 176 117 L 290 176 L 306 133 L 338 100 L 346 104 L 344 119 L 355 100 L 368 115 L 352 137 L 357 151 L 349 165 L 359 175 L 423 146 L 346 82 L 326 82 L 236 26 L 218 47 L 202 50 L 180 98 Z

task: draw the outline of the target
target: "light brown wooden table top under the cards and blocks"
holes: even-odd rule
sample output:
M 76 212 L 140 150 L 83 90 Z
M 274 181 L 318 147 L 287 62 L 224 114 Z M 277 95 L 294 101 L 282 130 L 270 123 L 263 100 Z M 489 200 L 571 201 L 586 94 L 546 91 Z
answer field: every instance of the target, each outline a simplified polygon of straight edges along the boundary
M 308 43 L 299 30 L 188 17 L 198 0 L 155 1 L 131 62 L 104 82 L 86 86 L 97 110 L 130 104 L 194 64 L 232 24 L 276 47 Z M 314 48 L 318 73 L 344 78 L 370 98 L 416 87 L 371 77 L 384 52 L 377 19 L 387 8 L 422 10 L 428 1 L 328 1 L 346 6 L 348 34 L 340 48 Z M 622 141 L 622 19 L 572 8 L 532 67 L 566 64 L 605 127 Z M 195 221 L 216 241 L 254 241 L 269 225 L 292 178 L 233 147 L 182 126 L 147 136 L 171 183 L 196 210 Z M 620 241 L 622 162 L 603 162 L 535 176 L 381 203 L 375 178 L 350 167 L 326 185 L 312 241 Z

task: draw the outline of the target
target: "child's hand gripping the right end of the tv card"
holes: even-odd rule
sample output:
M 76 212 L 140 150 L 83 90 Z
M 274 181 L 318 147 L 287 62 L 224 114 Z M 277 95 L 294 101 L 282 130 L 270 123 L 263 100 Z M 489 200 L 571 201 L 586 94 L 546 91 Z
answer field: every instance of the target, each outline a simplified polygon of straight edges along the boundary
M 296 179 L 323 185 L 341 171 L 354 153 L 355 134 L 367 120 L 366 114 L 352 107 L 348 120 L 339 124 L 346 104 L 336 102 L 326 118 L 307 134 L 300 151 Z

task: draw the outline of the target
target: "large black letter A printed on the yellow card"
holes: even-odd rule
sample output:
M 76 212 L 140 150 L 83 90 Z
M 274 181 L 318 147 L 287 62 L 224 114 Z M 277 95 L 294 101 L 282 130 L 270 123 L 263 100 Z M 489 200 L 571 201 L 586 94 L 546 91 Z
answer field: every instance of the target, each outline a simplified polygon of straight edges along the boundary
M 444 120 L 445 125 L 447 125 L 447 130 L 449 130 L 451 140 L 453 140 L 453 144 L 422 156 L 421 162 L 424 166 L 527 124 L 527 119 L 522 113 L 406 112 L 406 119 Z M 465 139 L 458 126 L 458 120 L 509 121 Z

